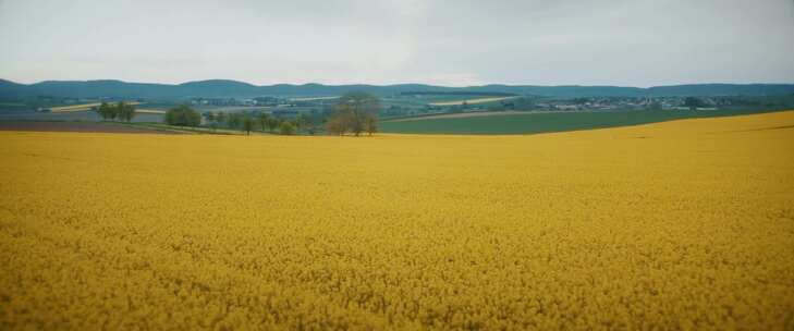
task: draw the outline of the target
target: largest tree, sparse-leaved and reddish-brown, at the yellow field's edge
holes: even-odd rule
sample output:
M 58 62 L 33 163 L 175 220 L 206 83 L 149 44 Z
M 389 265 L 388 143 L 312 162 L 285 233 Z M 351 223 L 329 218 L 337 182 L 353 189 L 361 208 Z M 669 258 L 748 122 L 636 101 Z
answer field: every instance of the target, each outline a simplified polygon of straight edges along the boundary
M 328 121 L 328 132 L 344 134 L 351 132 L 358 136 L 367 131 L 368 122 L 377 122 L 380 100 L 367 93 L 349 93 L 337 100 L 333 113 Z M 375 127 L 375 126 L 374 126 Z

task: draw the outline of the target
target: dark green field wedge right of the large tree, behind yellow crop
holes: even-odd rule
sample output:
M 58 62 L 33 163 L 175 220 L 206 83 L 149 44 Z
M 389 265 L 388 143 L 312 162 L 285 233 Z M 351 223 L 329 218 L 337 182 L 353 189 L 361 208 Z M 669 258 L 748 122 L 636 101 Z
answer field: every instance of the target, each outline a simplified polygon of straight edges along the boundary
M 648 124 L 681 119 L 743 115 L 769 111 L 772 110 L 464 112 L 384 120 L 380 122 L 380 130 L 388 133 L 410 134 L 534 134 Z

